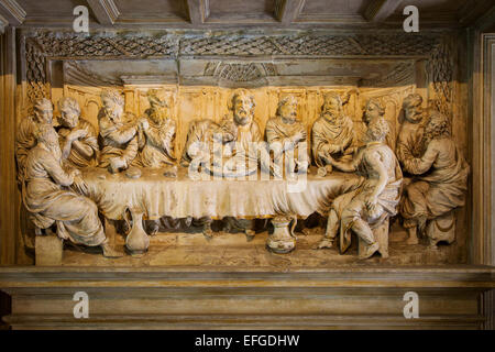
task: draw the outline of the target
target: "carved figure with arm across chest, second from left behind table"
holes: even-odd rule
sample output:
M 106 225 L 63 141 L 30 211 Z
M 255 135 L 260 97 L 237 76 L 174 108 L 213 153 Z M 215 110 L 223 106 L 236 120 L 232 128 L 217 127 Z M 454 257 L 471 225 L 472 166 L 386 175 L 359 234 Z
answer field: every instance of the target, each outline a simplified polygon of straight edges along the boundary
M 79 103 L 74 98 L 62 98 L 58 135 L 61 136 L 62 158 L 75 167 L 89 167 L 98 164 L 98 135 L 91 123 L 80 118 Z

